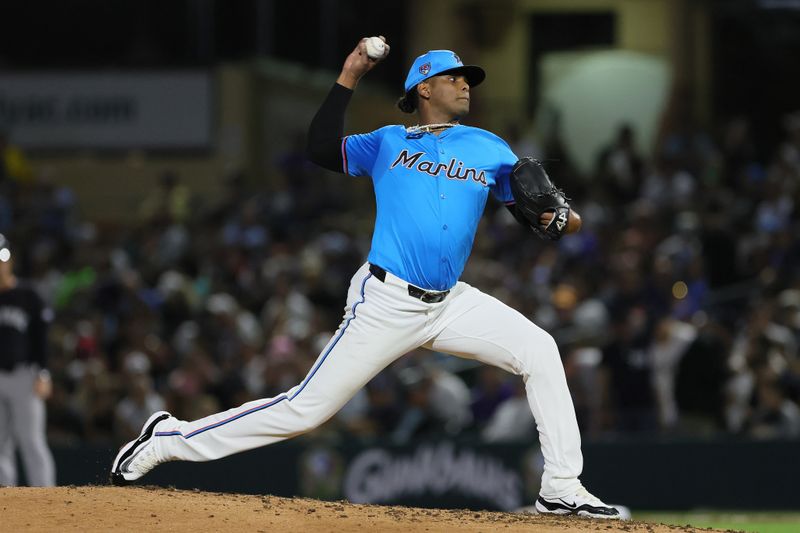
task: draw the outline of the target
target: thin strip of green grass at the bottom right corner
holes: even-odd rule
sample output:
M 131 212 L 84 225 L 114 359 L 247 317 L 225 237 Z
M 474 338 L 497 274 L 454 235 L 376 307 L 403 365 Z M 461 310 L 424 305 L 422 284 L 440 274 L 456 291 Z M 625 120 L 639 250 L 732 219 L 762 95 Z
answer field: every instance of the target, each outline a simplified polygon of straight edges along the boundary
M 754 533 L 800 533 L 800 512 L 634 512 L 634 520 Z

